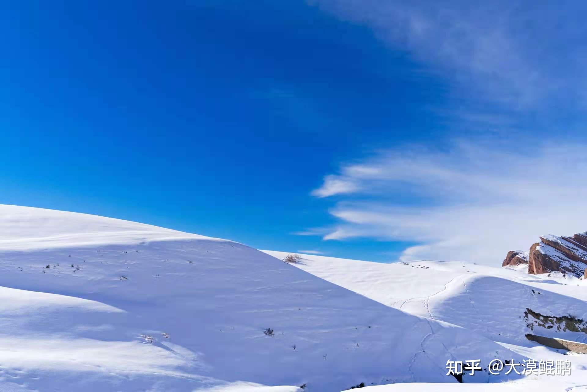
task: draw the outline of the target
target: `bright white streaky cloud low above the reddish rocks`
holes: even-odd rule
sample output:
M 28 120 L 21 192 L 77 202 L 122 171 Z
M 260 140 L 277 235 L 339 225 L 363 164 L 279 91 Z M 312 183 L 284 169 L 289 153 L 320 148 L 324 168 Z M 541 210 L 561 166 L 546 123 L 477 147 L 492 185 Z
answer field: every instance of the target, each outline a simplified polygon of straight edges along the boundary
M 527 249 L 541 234 L 587 230 L 585 152 L 587 145 L 555 140 L 381 152 L 358 166 L 371 168 L 368 176 L 349 165 L 327 177 L 356 188 L 330 211 L 339 225 L 310 232 L 420 243 L 404 250 L 402 260 L 497 265 L 508 250 Z

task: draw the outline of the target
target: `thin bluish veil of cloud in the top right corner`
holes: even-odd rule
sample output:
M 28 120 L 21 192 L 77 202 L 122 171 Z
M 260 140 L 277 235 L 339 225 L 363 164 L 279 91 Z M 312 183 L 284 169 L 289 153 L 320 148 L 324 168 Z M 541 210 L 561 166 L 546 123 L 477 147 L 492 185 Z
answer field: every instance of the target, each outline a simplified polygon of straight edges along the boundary
M 512 108 L 544 108 L 556 96 L 585 105 L 587 4 L 312 0 L 364 24 L 393 48 L 438 72 L 460 93 Z

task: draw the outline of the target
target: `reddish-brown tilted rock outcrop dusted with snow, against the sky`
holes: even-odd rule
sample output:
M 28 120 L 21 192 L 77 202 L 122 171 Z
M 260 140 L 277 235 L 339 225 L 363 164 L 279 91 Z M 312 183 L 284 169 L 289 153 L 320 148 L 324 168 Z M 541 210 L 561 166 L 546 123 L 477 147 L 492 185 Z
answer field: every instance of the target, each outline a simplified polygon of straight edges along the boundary
M 526 256 L 527 255 L 527 256 Z M 587 233 L 572 237 L 541 236 L 529 253 L 512 250 L 502 266 L 528 263 L 529 274 L 562 272 L 582 277 L 587 269 Z

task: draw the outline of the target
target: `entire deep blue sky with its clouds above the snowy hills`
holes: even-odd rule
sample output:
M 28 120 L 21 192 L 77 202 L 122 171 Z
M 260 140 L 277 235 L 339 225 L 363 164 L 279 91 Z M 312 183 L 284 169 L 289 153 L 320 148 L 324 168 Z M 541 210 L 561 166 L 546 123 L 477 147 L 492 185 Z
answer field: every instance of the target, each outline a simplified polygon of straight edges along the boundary
M 583 227 L 580 3 L 81 3 L 1 5 L 1 203 L 375 261 Z

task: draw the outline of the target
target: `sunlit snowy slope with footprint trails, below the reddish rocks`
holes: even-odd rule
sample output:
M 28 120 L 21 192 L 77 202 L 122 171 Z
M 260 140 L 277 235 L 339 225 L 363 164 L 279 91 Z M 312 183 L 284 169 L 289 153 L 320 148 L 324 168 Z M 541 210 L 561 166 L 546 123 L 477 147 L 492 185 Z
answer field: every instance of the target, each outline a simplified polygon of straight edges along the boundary
M 288 253 L 264 250 L 278 259 Z M 538 326 L 529 308 L 548 316 L 587 319 L 587 282 L 562 273 L 528 275 L 528 265 L 489 267 L 474 263 L 417 261 L 372 263 L 302 254 L 299 269 L 389 307 L 446 321 L 485 336 L 534 360 L 571 360 L 571 376 L 528 376 L 487 386 L 483 384 L 394 384 L 373 392 L 396 391 L 587 391 L 587 355 L 558 352 L 525 338 L 532 333 L 587 343 L 587 334 Z M 528 326 L 532 322 L 532 329 Z M 562 325 L 561 325 L 562 327 Z M 367 389 L 370 391 L 370 389 Z

